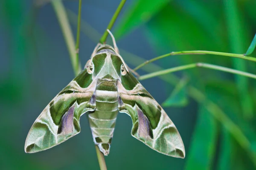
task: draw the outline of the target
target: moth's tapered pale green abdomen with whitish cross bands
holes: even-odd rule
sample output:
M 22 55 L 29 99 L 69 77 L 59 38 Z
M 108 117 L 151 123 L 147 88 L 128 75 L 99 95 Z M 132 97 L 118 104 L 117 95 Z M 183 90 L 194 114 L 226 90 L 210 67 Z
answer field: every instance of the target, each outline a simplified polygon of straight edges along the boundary
M 118 113 L 118 92 L 115 83 L 100 83 L 96 88 L 95 97 L 96 109 L 89 113 L 90 128 L 94 143 L 104 155 L 108 155 Z

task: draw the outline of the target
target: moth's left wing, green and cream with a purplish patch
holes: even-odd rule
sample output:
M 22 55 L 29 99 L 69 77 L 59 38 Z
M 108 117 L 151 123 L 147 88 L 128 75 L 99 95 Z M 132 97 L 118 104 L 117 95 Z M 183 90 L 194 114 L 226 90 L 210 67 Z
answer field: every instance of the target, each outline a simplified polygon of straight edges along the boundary
M 96 81 L 84 69 L 46 106 L 35 120 L 25 142 L 25 152 L 54 147 L 80 132 L 80 116 L 95 110 Z

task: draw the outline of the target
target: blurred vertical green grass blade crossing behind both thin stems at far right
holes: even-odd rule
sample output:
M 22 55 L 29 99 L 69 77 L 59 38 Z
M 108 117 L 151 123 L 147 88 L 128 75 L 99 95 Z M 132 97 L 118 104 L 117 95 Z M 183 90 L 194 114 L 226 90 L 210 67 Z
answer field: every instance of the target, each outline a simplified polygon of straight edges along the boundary
M 223 0 L 223 3 L 231 51 L 234 53 L 242 53 L 244 51 L 243 43 L 246 42 L 246 32 L 242 27 L 244 21 L 238 9 L 237 0 Z M 247 70 L 247 65 L 244 61 L 239 59 L 232 59 L 232 61 L 235 69 L 241 71 Z M 235 76 L 235 80 L 240 93 L 242 113 L 245 118 L 250 119 L 253 117 L 253 102 L 247 90 L 248 79 L 246 77 Z

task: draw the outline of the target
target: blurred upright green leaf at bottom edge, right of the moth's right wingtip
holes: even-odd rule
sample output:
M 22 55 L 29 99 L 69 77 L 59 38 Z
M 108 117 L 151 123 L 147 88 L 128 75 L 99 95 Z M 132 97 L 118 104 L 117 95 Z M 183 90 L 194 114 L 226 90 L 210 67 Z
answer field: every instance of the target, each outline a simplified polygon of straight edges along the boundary
M 197 124 L 186 161 L 186 170 L 211 169 L 218 136 L 218 124 L 212 114 L 201 105 Z

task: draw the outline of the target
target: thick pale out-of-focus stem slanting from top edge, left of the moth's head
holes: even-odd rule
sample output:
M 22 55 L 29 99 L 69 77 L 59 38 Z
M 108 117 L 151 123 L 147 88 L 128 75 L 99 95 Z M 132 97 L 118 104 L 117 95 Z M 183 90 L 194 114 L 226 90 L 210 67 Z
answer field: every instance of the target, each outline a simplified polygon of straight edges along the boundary
M 71 60 L 74 73 L 75 75 L 78 75 L 81 72 L 81 66 L 76 57 L 75 40 L 70 28 L 70 24 L 67 19 L 67 14 L 66 14 L 64 5 L 61 0 L 52 0 L 51 3 L 55 10 L 58 22 L 61 26 L 61 31 L 63 33 L 65 42 L 67 44 L 67 49 L 70 54 L 70 60 Z

